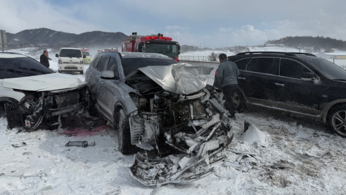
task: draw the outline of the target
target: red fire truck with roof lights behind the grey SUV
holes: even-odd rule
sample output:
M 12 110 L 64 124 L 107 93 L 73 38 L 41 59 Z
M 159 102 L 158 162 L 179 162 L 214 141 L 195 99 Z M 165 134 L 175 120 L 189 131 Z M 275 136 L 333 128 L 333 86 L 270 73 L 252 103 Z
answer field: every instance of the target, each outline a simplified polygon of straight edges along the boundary
M 132 33 L 132 36 L 122 39 L 123 52 L 143 52 L 159 53 L 167 55 L 179 61 L 180 45 L 172 38 L 164 37 L 163 34 L 139 36 Z

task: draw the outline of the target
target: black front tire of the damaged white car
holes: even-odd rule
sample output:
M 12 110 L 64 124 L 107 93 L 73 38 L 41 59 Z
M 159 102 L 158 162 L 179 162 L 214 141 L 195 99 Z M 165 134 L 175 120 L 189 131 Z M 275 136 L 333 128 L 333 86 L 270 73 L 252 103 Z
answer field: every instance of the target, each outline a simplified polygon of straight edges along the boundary
M 8 129 L 24 126 L 23 117 L 20 114 L 19 107 L 16 104 L 12 102 L 6 102 L 4 104 L 4 110 L 7 118 Z

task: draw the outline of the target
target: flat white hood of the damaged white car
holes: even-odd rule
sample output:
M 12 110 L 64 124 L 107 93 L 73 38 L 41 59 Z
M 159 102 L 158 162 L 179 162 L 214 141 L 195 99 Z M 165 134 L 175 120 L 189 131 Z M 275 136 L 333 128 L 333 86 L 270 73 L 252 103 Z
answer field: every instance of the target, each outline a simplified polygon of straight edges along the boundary
M 86 85 L 79 78 L 71 75 L 53 73 L 31 77 L 3 79 L 3 87 L 27 91 L 50 91 L 58 89 L 75 88 Z

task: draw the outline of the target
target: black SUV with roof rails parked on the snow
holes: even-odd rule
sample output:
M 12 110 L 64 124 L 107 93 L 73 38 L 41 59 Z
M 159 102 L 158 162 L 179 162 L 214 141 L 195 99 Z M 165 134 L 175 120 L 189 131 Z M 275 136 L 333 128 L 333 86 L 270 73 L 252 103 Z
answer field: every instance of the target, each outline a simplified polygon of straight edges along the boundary
M 308 53 L 245 52 L 228 57 L 239 68 L 237 109 L 259 105 L 327 122 L 346 137 L 346 71 Z

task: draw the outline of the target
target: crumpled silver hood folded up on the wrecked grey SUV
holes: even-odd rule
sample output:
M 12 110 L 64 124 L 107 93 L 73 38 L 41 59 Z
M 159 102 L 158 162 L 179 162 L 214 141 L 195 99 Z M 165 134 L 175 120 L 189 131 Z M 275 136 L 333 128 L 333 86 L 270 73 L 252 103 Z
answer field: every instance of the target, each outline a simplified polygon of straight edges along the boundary
M 187 63 L 138 68 L 164 90 L 189 95 L 206 87 L 213 68 Z

